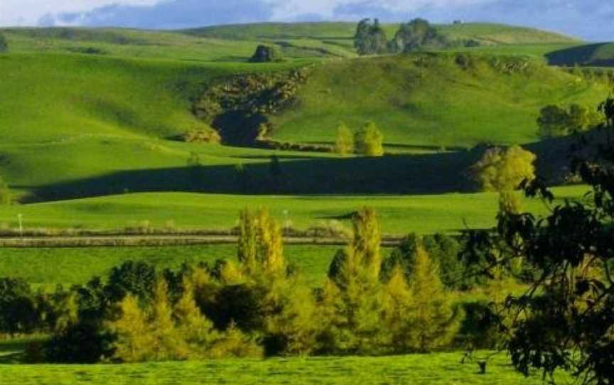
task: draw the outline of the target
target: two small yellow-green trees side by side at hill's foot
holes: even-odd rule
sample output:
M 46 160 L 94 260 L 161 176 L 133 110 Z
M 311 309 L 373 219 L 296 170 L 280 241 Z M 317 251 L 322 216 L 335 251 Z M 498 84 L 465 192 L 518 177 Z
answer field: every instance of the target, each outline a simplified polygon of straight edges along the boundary
M 337 128 L 335 153 L 348 155 L 357 153 L 363 156 L 384 155 L 384 135 L 373 121 L 367 122 L 361 129 L 352 130 L 341 123 Z

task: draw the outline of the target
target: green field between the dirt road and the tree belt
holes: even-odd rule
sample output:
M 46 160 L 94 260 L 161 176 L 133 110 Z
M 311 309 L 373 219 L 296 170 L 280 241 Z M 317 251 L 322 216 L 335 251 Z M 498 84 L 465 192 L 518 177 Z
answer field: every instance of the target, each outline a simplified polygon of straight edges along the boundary
M 336 246 L 286 246 L 285 255 L 311 286 L 321 286 Z M 384 250 L 384 255 L 389 251 Z M 212 264 L 235 259 L 235 245 L 168 247 L 93 247 L 87 249 L 2 249 L 0 276 L 20 277 L 37 288 L 68 288 L 86 283 L 93 276 L 106 276 L 125 261 L 146 261 L 158 269 L 178 269 L 181 264 Z M 23 266 L 28 266 L 24 269 Z

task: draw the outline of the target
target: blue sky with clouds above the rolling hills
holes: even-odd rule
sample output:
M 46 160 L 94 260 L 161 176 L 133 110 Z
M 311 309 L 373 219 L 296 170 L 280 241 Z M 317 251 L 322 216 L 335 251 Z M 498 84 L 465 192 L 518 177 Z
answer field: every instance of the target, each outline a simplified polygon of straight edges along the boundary
M 613 0 L 0 0 L 0 26 L 190 28 L 256 21 L 494 21 L 614 40 Z

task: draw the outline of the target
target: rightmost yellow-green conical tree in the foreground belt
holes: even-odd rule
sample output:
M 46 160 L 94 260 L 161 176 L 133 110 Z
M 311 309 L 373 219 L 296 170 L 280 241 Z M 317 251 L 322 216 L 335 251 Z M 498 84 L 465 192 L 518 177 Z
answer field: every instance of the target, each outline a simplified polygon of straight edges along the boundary
M 409 279 L 411 315 L 407 320 L 411 329 L 407 341 L 417 352 L 446 346 L 458 330 L 450 294 L 439 278 L 439 271 L 423 247 L 416 251 L 414 270 Z

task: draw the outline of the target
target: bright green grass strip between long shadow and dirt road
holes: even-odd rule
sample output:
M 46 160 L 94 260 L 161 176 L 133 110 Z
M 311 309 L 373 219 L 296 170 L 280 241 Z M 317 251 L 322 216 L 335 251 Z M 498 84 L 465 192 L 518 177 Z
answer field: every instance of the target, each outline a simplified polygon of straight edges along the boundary
M 583 186 L 555 188 L 560 199 L 581 197 Z M 444 195 L 216 195 L 138 193 L 60 202 L 17 205 L 0 209 L 0 223 L 16 227 L 18 214 L 26 227 L 86 227 L 122 229 L 146 222 L 177 228 L 230 229 L 244 207 L 267 207 L 285 226 L 349 227 L 352 213 L 374 207 L 386 234 L 433 234 L 485 228 L 495 224 L 495 193 Z M 525 209 L 544 213 L 539 200 L 525 200 Z

